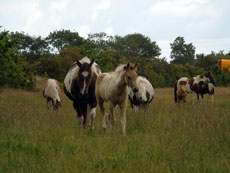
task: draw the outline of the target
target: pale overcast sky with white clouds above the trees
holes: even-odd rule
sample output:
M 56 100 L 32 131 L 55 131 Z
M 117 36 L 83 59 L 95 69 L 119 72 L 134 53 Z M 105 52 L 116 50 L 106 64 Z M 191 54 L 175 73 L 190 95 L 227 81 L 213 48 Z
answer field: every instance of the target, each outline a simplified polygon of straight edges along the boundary
M 0 0 L 0 26 L 42 37 L 59 29 L 85 38 L 141 33 L 167 59 L 178 36 L 196 53 L 230 52 L 230 0 Z

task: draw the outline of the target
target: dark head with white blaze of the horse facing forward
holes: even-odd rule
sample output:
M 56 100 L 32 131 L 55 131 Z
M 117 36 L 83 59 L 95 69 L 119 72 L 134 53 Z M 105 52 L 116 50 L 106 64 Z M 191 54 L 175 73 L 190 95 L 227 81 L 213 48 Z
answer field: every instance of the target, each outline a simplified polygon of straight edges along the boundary
M 91 60 L 90 63 L 81 63 L 77 60 L 77 65 L 79 67 L 78 71 L 78 87 L 80 89 L 80 96 L 84 97 L 88 94 L 88 89 L 92 79 L 92 70 L 91 67 L 94 63 L 94 60 Z

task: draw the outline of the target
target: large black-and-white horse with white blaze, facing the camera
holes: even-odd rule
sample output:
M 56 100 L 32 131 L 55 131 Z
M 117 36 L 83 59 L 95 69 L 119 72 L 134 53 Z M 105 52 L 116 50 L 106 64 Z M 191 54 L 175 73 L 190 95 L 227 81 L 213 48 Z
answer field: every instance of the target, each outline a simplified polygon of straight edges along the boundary
M 64 79 L 64 92 L 73 101 L 73 107 L 77 111 L 79 127 L 85 127 L 87 114 L 89 115 L 89 127 L 93 129 L 93 120 L 96 116 L 97 100 L 95 96 L 95 83 L 101 70 L 94 60 L 84 57 L 77 60 Z

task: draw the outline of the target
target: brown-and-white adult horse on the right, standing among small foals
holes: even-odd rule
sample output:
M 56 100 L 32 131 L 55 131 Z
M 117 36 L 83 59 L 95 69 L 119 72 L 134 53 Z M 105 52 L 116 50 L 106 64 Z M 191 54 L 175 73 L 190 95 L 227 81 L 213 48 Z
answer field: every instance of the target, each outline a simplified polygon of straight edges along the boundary
M 187 77 L 182 77 L 179 80 L 175 82 L 174 85 L 174 100 L 177 102 L 177 88 L 180 85 L 186 85 L 187 92 L 188 93 L 196 93 L 197 99 L 199 100 L 199 94 L 202 92 L 202 88 L 205 86 L 207 83 L 212 83 L 215 84 L 215 79 L 212 77 L 210 72 L 207 72 L 203 75 L 197 75 L 196 77 L 193 77 L 191 79 Z M 203 97 L 202 97 L 203 98 Z M 193 103 L 194 103 L 194 97 L 193 97 Z

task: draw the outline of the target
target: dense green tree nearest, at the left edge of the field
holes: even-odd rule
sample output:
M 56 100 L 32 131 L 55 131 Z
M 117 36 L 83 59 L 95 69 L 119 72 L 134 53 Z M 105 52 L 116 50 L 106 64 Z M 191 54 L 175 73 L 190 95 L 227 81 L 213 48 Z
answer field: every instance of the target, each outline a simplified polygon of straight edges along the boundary
M 0 86 L 30 88 L 34 86 L 31 67 L 22 60 L 8 31 L 0 32 Z

